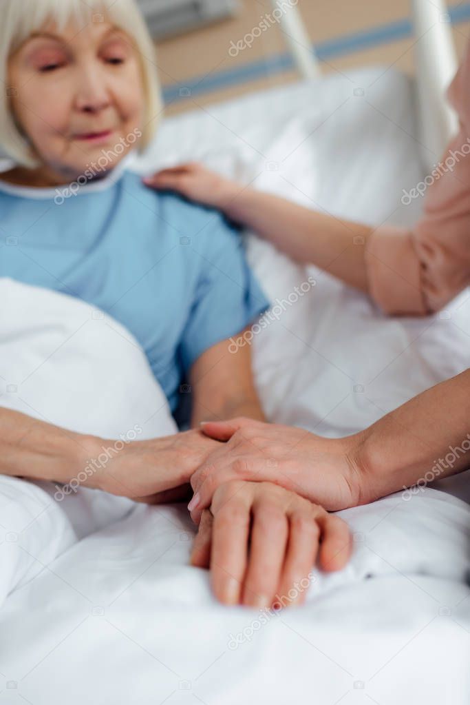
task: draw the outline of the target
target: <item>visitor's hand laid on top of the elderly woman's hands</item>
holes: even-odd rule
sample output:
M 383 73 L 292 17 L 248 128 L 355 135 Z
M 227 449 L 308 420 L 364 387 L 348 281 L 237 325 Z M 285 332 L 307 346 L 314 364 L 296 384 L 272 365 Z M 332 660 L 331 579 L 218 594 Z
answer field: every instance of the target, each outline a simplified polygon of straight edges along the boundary
M 226 441 L 191 477 L 189 503 L 198 523 L 218 487 L 234 479 L 274 482 L 336 511 L 360 503 L 357 439 L 324 439 L 303 429 L 252 419 L 203 424 L 212 439 Z

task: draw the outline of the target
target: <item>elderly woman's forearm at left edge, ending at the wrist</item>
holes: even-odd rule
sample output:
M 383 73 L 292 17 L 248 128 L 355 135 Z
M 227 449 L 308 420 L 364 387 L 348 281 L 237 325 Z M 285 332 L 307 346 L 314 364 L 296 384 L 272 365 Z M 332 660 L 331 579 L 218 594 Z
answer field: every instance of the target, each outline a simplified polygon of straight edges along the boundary
M 69 482 L 99 445 L 92 436 L 0 408 L 0 473 Z M 91 485 L 90 485 L 91 486 Z

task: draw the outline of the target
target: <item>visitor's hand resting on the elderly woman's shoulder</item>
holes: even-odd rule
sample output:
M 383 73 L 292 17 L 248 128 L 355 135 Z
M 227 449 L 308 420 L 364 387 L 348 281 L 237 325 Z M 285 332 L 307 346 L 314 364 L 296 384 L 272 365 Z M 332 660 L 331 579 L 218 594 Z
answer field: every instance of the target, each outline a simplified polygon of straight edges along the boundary
M 220 210 L 223 210 L 243 188 L 196 163 L 163 169 L 144 178 L 144 183 L 159 191 L 176 191 L 191 201 Z

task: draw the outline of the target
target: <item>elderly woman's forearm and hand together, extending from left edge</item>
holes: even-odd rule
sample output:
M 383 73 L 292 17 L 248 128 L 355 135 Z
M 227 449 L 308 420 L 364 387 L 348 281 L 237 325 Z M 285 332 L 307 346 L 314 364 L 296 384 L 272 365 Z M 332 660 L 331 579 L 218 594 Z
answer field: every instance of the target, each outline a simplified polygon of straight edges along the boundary
M 195 431 L 132 443 L 124 439 L 84 436 L 0 408 L 0 473 L 149 503 L 175 501 L 170 491 L 189 482 L 217 446 Z

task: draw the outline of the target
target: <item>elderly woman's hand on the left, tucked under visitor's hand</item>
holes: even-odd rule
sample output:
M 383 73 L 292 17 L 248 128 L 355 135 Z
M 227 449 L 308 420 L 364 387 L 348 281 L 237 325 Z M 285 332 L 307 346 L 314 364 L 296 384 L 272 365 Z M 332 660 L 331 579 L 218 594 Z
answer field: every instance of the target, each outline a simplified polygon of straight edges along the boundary
M 105 446 L 113 448 L 115 441 L 106 441 L 100 450 Z M 149 504 L 177 501 L 188 493 L 194 470 L 218 446 L 201 431 L 134 441 L 110 454 L 106 465 L 97 470 L 94 486 Z

